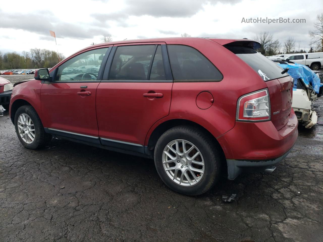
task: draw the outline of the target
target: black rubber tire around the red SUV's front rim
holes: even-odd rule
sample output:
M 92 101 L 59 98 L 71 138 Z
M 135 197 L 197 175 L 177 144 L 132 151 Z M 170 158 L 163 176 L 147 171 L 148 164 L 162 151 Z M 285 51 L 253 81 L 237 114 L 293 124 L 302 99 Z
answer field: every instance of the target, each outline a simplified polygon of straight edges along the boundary
M 35 139 L 32 143 L 27 144 L 19 135 L 18 131 L 18 117 L 20 114 L 25 113 L 27 114 L 33 121 L 34 123 L 34 128 L 35 128 Z M 30 105 L 24 105 L 21 106 L 17 109 L 16 114 L 15 114 L 15 128 L 16 128 L 16 134 L 18 136 L 18 139 L 20 140 L 21 144 L 25 146 L 27 149 L 39 149 L 44 146 L 46 146 L 52 136 L 50 134 L 45 133 L 44 126 L 42 122 L 40 121 L 40 118 L 36 112 L 36 110 L 30 106 Z

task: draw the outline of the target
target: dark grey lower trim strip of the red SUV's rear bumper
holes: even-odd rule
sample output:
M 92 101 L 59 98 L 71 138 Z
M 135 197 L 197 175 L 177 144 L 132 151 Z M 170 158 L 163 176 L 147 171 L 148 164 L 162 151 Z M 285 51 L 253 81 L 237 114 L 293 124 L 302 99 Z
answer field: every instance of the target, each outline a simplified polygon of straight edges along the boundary
M 272 160 L 231 160 L 227 159 L 228 165 L 228 179 L 234 180 L 242 172 L 257 172 L 263 171 L 277 164 L 284 159 L 292 149 L 288 150 L 284 155 Z

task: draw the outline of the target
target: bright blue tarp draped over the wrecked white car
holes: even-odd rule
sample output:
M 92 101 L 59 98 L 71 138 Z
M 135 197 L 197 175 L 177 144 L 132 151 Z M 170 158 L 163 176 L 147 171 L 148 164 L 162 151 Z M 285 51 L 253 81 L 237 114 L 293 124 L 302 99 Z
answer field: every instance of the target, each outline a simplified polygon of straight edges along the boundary
M 316 93 L 319 92 L 321 84 L 320 78 L 307 66 L 300 65 L 300 64 L 277 64 L 278 66 L 282 67 L 283 69 L 289 68 L 287 73 L 289 76 L 294 78 L 294 88 L 297 86 L 297 79 L 302 78 L 305 85 L 311 85 Z

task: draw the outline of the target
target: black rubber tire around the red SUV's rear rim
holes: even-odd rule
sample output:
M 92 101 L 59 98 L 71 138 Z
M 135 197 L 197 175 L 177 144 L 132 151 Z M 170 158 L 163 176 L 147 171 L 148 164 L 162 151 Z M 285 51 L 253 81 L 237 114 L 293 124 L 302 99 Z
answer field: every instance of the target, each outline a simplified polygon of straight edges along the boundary
M 163 168 L 163 150 L 167 144 L 176 139 L 184 139 L 193 143 L 203 155 L 204 173 L 201 181 L 192 186 L 182 186 L 172 181 Z M 158 139 L 154 160 L 155 166 L 162 181 L 172 190 L 190 196 L 197 196 L 209 191 L 220 177 L 221 153 L 214 140 L 203 130 L 192 126 L 176 126 L 161 135 Z

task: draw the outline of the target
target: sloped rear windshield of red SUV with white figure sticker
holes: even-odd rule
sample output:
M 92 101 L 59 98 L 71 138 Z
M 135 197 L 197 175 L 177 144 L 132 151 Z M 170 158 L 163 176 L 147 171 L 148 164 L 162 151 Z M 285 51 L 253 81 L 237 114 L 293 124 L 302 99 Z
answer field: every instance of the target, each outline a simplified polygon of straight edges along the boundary
M 252 48 L 244 46 L 224 46 L 245 63 L 247 63 L 256 73 L 264 79 L 264 81 L 281 78 L 288 76 L 287 72 L 281 74 L 283 69 L 275 62 L 268 59 L 264 55 L 258 53 Z

